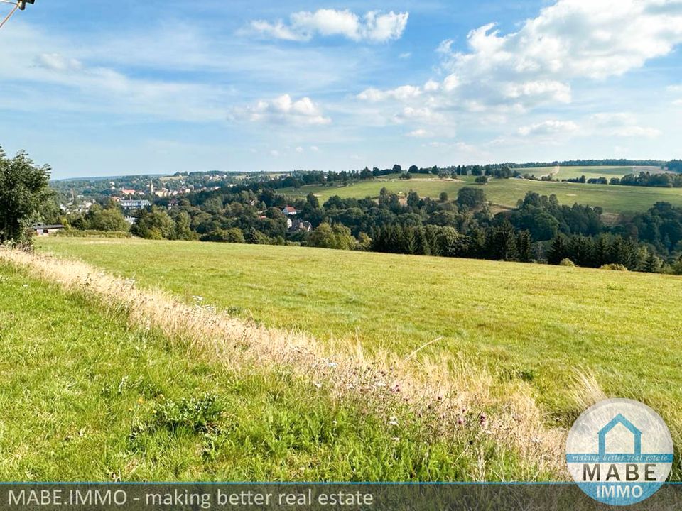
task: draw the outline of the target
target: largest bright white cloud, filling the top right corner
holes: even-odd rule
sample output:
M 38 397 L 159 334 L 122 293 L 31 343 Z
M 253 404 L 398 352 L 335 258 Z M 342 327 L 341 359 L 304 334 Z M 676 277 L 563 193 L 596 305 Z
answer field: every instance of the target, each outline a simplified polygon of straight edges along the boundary
M 682 42 L 679 5 L 676 0 L 559 0 L 516 33 L 500 35 L 494 23 L 471 31 L 470 52 L 446 54 L 448 68 L 467 77 L 489 73 L 514 81 L 622 75 Z

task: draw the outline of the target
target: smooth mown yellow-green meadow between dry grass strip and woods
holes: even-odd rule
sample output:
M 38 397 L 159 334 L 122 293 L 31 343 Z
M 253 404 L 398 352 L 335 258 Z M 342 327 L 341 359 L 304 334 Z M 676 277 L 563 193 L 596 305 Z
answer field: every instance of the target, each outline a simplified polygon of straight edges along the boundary
M 532 379 L 572 409 L 573 369 L 651 403 L 682 431 L 682 279 L 665 275 L 313 248 L 51 238 L 82 258 L 232 314 L 367 351 L 464 355 Z

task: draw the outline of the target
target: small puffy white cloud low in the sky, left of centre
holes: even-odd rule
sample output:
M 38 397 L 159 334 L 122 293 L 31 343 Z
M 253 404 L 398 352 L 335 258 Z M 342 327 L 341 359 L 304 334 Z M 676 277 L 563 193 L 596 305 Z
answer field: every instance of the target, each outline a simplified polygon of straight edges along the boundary
M 296 125 L 324 125 L 332 121 L 322 114 L 318 104 L 309 97 L 294 101 L 289 94 L 261 99 L 253 106 L 234 109 L 232 119 Z

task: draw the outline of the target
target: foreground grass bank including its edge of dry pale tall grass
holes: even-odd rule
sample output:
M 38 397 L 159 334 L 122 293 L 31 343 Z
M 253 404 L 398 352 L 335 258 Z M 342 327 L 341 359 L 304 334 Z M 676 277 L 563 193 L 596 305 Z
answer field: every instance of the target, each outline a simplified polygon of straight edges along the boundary
M 362 363 L 91 270 L 0 251 L 2 480 L 560 477 L 500 428 L 491 389 L 413 401 Z

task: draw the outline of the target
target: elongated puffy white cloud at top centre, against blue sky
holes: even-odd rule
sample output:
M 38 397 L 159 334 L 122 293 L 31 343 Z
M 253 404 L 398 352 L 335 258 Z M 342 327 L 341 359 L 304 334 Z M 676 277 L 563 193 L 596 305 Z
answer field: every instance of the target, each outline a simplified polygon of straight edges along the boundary
M 251 21 L 252 32 L 268 38 L 308 41 L 315 35 L 340 36 L 354 41 L 386 43 L 401 38 L 409 13 L 369 11 L 358 16 L 352 11 L 318 9 L 291 14 L 288 23 L 264 20 Z

